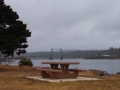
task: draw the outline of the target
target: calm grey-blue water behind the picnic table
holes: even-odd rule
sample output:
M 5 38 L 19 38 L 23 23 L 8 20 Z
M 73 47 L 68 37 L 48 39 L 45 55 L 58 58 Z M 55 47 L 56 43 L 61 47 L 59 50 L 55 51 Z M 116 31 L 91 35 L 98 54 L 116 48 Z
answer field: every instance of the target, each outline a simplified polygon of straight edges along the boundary
M 109 74 L 116 74 L 120 72 L 120 60 L 110 60 L 110 59 L 31 59 L 34 66 L 38 67 L 50 67 L 50 65 L 42 64 L 42 62 L 80 62 L 78 65 L 70 65 L 70 68 L 78 68 L 78 69 L 95 69 L 95 70 L 102 70 L 106 71 Z M 2 62 L 2 64 L 10 64 L 10 65 L 18 65 L 19 60 L 15 60 L 15 62 L 7 63 Z

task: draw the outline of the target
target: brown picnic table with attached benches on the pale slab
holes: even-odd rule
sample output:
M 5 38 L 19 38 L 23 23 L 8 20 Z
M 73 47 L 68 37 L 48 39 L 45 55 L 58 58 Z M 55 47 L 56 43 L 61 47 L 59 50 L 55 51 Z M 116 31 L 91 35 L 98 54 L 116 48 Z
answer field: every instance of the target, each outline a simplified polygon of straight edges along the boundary
M 70 64 L 79 64 L 79 62 L 42 62 L 42 64 L 50 64 L 50 68 L 42 68 L 41 74 L 43 78 L 63 79 L 77 78 L 78 70 L 69 69 Z M 60 65 L 60 68 L 58 66 Z

